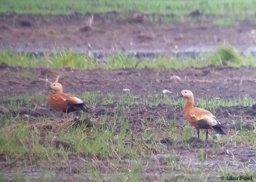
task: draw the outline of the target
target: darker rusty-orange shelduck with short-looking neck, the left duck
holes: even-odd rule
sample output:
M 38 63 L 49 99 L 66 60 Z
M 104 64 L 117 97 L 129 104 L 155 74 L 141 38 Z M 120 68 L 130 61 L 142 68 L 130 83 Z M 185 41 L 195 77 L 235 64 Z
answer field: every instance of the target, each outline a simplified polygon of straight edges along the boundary
M 88 109 L 84 107 L 85 103 L 71 95 L 63 93 L 63 88 L 60 83 L 57 83 L 59 76 L 57 77 L 54 83 L 50 83 L 50 86 L 45 88 L 45 90 L 52 90 L 53 93 L 49 95 L 47 103 L 55 111 L 61 112 L 60 119 L 63 116 L 63 113 L 74 112 L 74 111 L 84 111 L 88 112 Z

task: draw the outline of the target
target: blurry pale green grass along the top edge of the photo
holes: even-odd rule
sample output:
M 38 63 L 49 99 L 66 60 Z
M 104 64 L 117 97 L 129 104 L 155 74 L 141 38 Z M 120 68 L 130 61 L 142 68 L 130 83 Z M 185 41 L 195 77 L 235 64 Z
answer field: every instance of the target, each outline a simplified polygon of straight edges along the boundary
M 254 0 L 3 0 L 0 13 L 18 14 L 72 14 L 74 12 L 112 12 L 127 15 L 129 11 L 142 13 L 174 14 L 173 20 L 188 19 L 187 15 L 199 9 L 204 15 L 216 15 L 217 24 L 223 25 L 223 19 L 229 22 L 244 19 L 253 20 L 256 2 Z M 230 23 L 227 23 L 230 24 Z M 225 25 L 225 23 L 224 23 Z

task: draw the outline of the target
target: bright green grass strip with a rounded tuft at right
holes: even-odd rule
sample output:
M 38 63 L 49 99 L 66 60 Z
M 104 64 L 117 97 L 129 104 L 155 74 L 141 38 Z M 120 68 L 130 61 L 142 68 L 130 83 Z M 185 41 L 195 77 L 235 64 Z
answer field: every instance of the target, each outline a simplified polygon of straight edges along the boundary
M 140 63 L 135 57 L 127 57 L 122 54 L 108 55 L 106 63 L 99 63 L 97 59 L 90 53 L 80 54 L 72 53 L 72 49 L 63 49 L 61 53 L 54 52 L 53 56 L 45 53 L 42 57 L 35 58 L 33 54 L 14 53 L 10 51 L 0 52 L 0 63 L 6 63 L 9 66 L 22 66 L 25 68 L 32 67 L 52 67 L 52 68 L 82 68 L 82 69 L 115 69 L 115 68 L 187 68 L 187 67 L 203 67 L 209 64 L 221 65 L 224 62 L 230 66 L 256 66 L 256 58 L 253 56 L 241 57 L 230 45 L 217 47 L 216 51 L 203 53 L 196 59 L 188 58 L 178 60 L 176 57 L 167 58 L 159 55 L 157 59 L 144 59 Z M 24 77 L 30 75 L 23 75 Z

